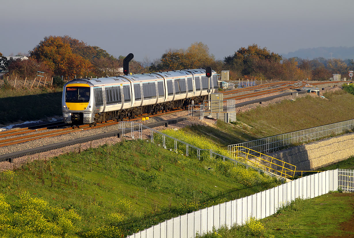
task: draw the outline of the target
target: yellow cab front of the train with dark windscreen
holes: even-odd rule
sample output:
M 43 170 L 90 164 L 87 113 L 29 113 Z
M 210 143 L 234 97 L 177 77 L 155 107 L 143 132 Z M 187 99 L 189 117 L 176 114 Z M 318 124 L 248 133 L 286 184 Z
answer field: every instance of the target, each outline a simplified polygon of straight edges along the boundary
M 72 80 L 64 85 L 62 109 L 65 123 L 93 123 L 93 85 L 85 80 Z

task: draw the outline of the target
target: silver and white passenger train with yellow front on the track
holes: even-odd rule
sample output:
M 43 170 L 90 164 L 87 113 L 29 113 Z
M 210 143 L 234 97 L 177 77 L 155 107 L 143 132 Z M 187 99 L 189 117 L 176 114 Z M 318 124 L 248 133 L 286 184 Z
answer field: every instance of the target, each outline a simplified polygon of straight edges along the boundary
M 217 90 L 216 72 L 207 78 L 203 68 L 73 79 L 63 88 L 63 118 L 65 123 L 91 125 L 132 119 L 187 108 L 192 100 L 202 103 L 208 91 Z

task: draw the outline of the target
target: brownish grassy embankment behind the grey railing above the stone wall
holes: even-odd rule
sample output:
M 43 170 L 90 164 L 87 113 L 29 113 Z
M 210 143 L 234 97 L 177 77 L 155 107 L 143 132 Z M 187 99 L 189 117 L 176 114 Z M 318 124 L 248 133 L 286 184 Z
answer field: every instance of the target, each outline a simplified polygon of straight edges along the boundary
M 192 126 L 183 130 L 204 135 L 218 145 L 226 146 L 354 118 L 354 95 L 338 90 L 324 96 L 328 100 L 306 96 L 257 107 L 238 113 L 238 121 L 234 124 L 218 121 L 216 128 Z

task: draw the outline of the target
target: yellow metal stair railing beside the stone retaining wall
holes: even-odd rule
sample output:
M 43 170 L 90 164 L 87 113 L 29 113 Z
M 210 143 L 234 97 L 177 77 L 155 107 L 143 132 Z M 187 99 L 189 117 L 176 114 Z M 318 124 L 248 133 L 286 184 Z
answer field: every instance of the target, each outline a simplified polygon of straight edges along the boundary
M 254 163 L 264 170 L 278 174 L 281 177 L 290 178 L 295 176 L 295 165 L 270 157 L 258 151 L 254 151 L 253 149 L 246 148 L 244 146 L 235 146 L 232 148 L 232 154 L 236 159 L 245 159 L 246 161 Z

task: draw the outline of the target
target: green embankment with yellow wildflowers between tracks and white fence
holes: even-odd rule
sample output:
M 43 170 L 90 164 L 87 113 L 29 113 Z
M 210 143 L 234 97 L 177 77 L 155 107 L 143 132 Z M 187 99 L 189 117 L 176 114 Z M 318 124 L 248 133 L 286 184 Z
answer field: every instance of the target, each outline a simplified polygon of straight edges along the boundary
M 279 184 L 141 140 L 35 161 L 0 180 L 0 235 L 9 237 L 121 237 Z

